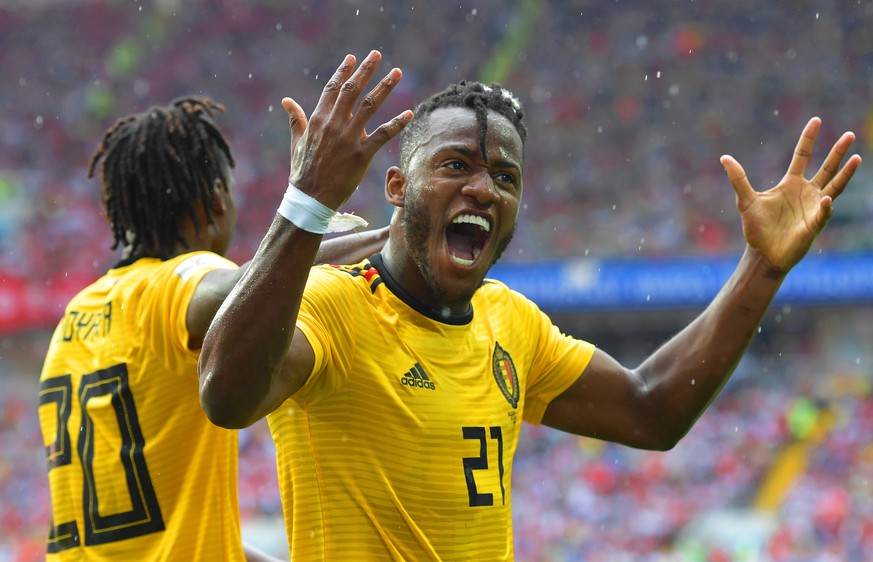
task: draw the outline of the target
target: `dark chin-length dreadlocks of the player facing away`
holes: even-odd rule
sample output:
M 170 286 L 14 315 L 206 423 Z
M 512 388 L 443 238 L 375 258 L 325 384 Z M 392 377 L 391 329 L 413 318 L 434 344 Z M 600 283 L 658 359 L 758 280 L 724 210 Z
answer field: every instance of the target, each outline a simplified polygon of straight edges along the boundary
M 191 218 L 199 233 L 198 209 L 214 224 L 215 180 L 236 166 L 230 146 L 215 123 L 224 106 L 189 96 L 166 106 L 118 119 L 91 157 L 88 177 L 100 165 L 103 205 L 115 242 L 129 255 L 169 258 L 187 242 L 182 221 Z

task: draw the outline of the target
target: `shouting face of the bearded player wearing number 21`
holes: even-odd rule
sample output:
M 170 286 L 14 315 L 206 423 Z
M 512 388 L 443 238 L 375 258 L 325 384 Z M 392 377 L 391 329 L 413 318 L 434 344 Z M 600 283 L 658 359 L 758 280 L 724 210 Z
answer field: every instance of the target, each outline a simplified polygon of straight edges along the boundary
M 403 197 L 405 251 L 420 277 L 408 289 L 450 309 L 466 308 L 518 218 L 521 138 L 508 119 L 489 112 L 483 154 L 480 127 L 470 109 L 434 111 Z

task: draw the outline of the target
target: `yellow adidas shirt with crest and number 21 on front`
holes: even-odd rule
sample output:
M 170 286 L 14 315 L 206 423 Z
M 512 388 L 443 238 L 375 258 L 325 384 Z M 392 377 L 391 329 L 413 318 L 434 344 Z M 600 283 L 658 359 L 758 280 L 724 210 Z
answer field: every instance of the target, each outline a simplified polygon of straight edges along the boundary
M 522 420 L 589 343 L 496 281 L 470 314 L 423 309 L 381 257 L 313 268 L 298 327 L 315 367 L 268 416 L 292 560 L 510 560 Z

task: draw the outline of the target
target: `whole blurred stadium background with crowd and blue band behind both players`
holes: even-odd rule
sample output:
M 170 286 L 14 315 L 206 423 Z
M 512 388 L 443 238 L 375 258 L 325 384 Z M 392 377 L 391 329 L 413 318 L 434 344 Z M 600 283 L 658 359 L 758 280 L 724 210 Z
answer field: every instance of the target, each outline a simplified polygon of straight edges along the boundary
M 685 440 L 641 452 L 525 426 L 518 560 L 873 560 L 873 2 L 0 0 L 0 562 L 44 558 L 36 415 L 50 330 L 118 258 L 89 158 L 115 118 L 224 103 L 247 260 L 288 172 L 283 96 L 311 110 L 378 48 L 396 115 L 462 79 L 525 103 L 523 210 L 493 271 L 567 332 L 636 364 L 688 322 L 744 242 L 719 164 L 759 190 L 806 121 L 867 162 Z M 377 118 L 378 120 L 378 118 Z M 377 155 L 346 210 L 387 224 Z M 245 534 L 283 555 L 266 425 L 240 434 Z

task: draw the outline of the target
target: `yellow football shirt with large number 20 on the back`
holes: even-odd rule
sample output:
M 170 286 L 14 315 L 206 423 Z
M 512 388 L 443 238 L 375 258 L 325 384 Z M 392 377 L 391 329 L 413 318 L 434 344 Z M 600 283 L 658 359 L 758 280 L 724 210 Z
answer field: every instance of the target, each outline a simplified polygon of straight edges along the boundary
M 49 561 L 243 560 L 237 433 L 200 409 L 187 347 L 209 252 L 144 258 L 76 295 L 40 377 Z

